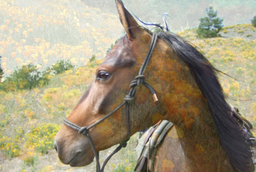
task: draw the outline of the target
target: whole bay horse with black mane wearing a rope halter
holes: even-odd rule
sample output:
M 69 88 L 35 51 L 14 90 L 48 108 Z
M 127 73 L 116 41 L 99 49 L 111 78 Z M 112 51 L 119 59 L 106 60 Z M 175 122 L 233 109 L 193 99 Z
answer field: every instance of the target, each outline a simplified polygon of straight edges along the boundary
M 225 101 L 218 70 L 176 34 L 148 31 L 115 2 L 126 34 L 56 135 L 60 161 L 99 161 L 100 150 L 124 147 L 132 134 L 165 119 L 175 127 L 157 149 L 154 171 L 254 171 L 251 126 Z

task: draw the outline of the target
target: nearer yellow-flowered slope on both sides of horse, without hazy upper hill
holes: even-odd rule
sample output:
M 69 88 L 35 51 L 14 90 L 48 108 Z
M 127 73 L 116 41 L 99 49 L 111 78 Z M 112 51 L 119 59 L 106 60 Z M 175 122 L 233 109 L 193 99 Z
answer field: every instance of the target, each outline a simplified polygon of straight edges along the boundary
M 243 25 L 243 27 L 245 27 Z M 228 101 L 238 107 L 252 123 L 256 123 L 256 41 L 239 37 L 196 39 L 195 31 L 184 31 L 180 36 L 188 39 L 200 48 L 209 61 L 224 73 L 234 78 L 221 75 L 223 89 L 230 99 Z M 100 62 L 100 61 L 98 61 Z M 62 119 L 70 113 L 83 94 L 90 80 L 93 78 L 95 65 L 88 64 L 64 74 L 54 76 L 51 83 L 42 88 L 24 90 L 20 92 L 0 92 L 0 131 L 1 140 L 1 171 L 11 169 L 15 162 L 14 171 L 21 169 L 62 169 L 75 170 L 84 168 L 70 168 L 61 164 L 52 150 L 53 136 L 61 125 Z M 52 130 L 54 128 L 55 130 Z M 33 140 L 39 133 L 45 131 L 45 140 Z M 49 131 L 52 131 L 49 133 Z M 48 133 L 48 134 L 47 134 Z M 47 140 L 49 139 L 49 140 Z M 108 168 L 115 169 L 116 164 L 125 162 L 121 157 L 132 157 L 125 162 L 126 166 L 134 161 L 134 144 L 116 155 L 108 164 Z M 50 142 L 49 142 L 50 141 Z M 46 145 L 42 147 L 42 145 Z M 43 150 L 38 154 L 38 150 Z M 45 154 L 48 153 L 48 154 Z M 109 154 L 106 150 L 101 155 Z M 125 156 L 124 156 L 125 154 Z M 12 157 L 12 158 L 10 158 Z M 30 159 L 28 159 L 30 157 Z M 30 161 L 37 162 L 30 162 Z M 28 162 L 27 162 L 28 161 Z M 131 161 L 131 162 L 130 162 Z M 40 163 L 38 163 L 40 162 Z M 30 163 L 30 164 L 29 164 Z M 31 163 L 33 165 L 31 165 Z M 86 169 L 94 168 L 91 164 Z M 47 171 L 47 170 L 46 170 Z M 92 170 L 93 171 L 93 170 Z

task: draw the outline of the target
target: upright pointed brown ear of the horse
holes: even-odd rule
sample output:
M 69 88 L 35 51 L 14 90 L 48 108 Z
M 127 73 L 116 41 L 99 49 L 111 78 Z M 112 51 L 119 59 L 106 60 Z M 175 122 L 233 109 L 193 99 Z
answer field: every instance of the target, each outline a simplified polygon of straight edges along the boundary
M 116 1 L 116 8 L 121 24 L 124 26 L 125 32 L 128 38 L 134 38 L 138 32 L 141 32 L 141 27 L 136 20 L 132 17 L 129 11 L 124 7 L 124 3 L 121 0 Z

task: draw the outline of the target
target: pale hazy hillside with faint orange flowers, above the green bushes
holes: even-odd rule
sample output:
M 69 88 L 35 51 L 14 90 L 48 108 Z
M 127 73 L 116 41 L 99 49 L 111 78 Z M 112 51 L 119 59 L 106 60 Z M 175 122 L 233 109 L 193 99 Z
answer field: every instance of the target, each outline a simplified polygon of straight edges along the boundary
M 102 58 L 122 34 L 117 15 L 75 1 L 0 0 L 0 55 L 4 75 L 32 62 L 38 68 L 70 59 L 83 66 Z

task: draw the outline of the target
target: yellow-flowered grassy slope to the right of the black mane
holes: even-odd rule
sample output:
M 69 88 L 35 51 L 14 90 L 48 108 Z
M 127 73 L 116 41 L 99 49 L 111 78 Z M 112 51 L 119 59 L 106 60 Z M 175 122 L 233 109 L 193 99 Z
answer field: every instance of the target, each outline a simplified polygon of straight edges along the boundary
M 195 31 L 184 31 L 180 36 L 188 39 L 212 62 L 212 64 L 234 78 L 220 75 L 221 84 L 228 101 L 237 106 L 242 114 L 255 123 L 256 113 L 256 41 L 243 38 L 243 35 L 254 33 L 256 28 L 251 24 L 224 27 L 232 32 L 232 37 L 196 39 Z M 247 30 L 241 35 L 237 30 Z M 236 33 L 237 34 L 234 34 Z M 242 37 L 242 38 L 241 38 Z M 250 36 L 251 38 L 251 36 Z

